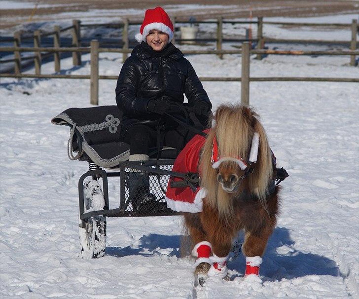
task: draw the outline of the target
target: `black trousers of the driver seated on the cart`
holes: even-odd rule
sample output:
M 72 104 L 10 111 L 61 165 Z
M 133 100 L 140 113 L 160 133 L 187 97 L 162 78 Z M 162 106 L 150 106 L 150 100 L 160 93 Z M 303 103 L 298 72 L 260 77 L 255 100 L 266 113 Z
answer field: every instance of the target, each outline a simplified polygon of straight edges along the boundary
M 169 130 L 160 130 L 160 146 L 171 147 L 182 150 L 188 141 L 196 135 L 182 126 L 171 128 Z M 155 128 L 138 124 L 132 126 L 125 133 L 124 141 L 130 144 L 130 155 L 149 154 L 150 148 L 157 147 L 158 132 Z

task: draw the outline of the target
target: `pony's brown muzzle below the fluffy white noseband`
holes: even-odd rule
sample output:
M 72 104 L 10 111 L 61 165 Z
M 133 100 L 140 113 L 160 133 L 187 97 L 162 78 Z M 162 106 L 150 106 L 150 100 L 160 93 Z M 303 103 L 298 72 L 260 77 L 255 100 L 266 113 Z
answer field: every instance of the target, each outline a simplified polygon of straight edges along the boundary
M 217 169 L 217 182 L 227 193 L 235 193 L 238 191 L 244 171 L 237 163 L 225 161 L 222 162 Z

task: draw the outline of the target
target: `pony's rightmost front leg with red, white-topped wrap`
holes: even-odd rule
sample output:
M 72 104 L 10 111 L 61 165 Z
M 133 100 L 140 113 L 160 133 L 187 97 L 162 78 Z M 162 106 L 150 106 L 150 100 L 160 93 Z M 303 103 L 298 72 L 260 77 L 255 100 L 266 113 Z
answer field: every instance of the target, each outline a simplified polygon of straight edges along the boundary
M 272 231 L 273 228 L 270 227 L 266 227 L 256 234 L 246 231 L 245 241 L 242 247 L 243 254 L 246 256 L 245 276 L 250 274 L 259 276 L 259 267 L 262 263 L 261 257 L 264 254 Z

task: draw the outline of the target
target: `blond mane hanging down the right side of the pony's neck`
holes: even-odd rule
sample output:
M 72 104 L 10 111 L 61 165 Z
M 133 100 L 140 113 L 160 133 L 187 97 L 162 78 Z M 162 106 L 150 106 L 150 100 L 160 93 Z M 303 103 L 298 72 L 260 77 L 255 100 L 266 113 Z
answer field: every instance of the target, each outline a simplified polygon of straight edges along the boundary
M 268 212 L 267 197 L 268 186 L 273 180 L 272 153 L 269 148 L 267 134 L 259 120 L 254 117 L 254 131 L 259 134 L 259 147 L 257 162 L 254 165 L 254 171 L 249 176 L 249 184 L 254 195 L 259 199 L 263 208 Z

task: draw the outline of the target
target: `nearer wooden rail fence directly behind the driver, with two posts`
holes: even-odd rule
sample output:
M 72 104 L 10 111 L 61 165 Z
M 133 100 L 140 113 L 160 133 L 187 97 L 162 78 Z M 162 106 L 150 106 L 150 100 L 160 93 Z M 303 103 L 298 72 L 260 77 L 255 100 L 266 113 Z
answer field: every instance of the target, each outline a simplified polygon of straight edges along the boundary
M 0 77 L 27 77 L 27 78 L 71 78 L 71 79 L 90 79 L 90 103 L 94 105 L 99 104 L 99 80 L 100 79 L 117 79 L 117 76 L 99 75 L 99 53 L 129 53 L 129 49 L 114 49 L 114 48 L 100 48 L 98 40 L 92 40 L 90 48 L 88 47 L 2 47 L 0 51 L 34 51 L 39 54 L 41 51 L 50 53 L 60 52 L 90 52 L 91 53 L 91 74 L 90 75 L 41 75 L 36 74 L 0 74 Z M 329 82 L 359 82 L 359 78 L 340 78 L 340 77 L 251 77 L 250 76 L 250 55 L 359 55 L 359 51 L 276 51 L 276 50 L 251 50 L 249 42 L 244 42 L 241 50 L 188 50 L 182 51 L 183 54 L 242 54 L 242 76 L 241 77 L 200 77 L 202 81 L 241 81 L 241 102 L 249 105 L 249 91 L 250 81 L 329 81 Z M 38 55 L 35 55 L 37 59 Z M 41 63 L 41 59 L 39 59 Z M 55 69 L 57 68 L 55 63 Z M 40 69 L 38 69 L 40 70 Z

